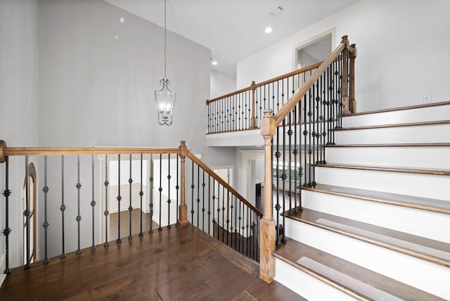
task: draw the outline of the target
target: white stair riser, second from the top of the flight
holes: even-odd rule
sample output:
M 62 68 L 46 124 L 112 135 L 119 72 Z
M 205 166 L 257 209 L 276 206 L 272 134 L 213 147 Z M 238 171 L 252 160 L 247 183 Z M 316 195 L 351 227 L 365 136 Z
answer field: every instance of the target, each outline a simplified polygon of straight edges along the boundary
M 450 124 L 335 131 L 336 144 L 441 143 L 450 141 Z

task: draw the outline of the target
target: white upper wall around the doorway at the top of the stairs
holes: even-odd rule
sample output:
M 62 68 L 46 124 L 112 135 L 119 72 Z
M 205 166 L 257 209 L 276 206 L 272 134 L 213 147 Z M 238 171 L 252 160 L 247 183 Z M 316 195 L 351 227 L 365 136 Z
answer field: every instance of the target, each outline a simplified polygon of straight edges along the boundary
M 360 0 L 238 62 L 238 89 L 289 72 L 295 45 L 335 28 L 358 49 L 358 111 L 450 101 L 449 13 L 446 0 Z

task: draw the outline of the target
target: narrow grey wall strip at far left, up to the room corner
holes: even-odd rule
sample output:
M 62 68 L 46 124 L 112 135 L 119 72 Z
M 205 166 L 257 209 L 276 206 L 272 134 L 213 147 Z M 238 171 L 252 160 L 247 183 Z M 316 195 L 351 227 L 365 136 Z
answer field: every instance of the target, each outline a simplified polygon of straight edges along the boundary
M 38 139 L 38 13 L 37 1 L 0 1 L 0 139 L 8 146 L 37 146 Z M 30 161 L 31 162 L 31 161 Z M 0 164 L 0 191 L 5 190 L 4 164 Z M 20 191 L 25 176 L 24 160 L 10 159 L 9 235 L 10 260 L 18 262 L 21 219 Z M 0 227 L 5 229 L 5 202 L 1 195 Z M 4 252 L 0 238 L 0 256 Z M 0 267 L 3 267 L 3 263 Z M 13 267 L 10 264 L 10 267 Z M 3 270 L 0 271 L 1 273 Z

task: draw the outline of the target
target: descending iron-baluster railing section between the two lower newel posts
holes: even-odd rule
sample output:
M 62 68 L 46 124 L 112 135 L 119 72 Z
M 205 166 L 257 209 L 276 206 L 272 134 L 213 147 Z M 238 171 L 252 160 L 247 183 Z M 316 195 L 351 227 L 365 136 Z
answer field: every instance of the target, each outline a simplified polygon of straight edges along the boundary
M 191 223 L 259 262 L 262 213 L 190 154 Z

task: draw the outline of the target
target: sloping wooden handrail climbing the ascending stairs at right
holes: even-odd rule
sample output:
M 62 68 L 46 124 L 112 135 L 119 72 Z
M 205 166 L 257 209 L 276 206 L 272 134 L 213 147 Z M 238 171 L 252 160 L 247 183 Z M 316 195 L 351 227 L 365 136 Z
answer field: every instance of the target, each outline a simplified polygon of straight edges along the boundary
M 286 102 L 285 105 L 283 105 L 283 107 L 281 107 L 281 109 L 278 110 L 278 112 L 275 114 L 274 118 L 276 126 L 283 122 L 290 111 L 295 108 L 295 105 L 297 105 L 297 103 L 302 100 L 303 96 L 307 94 L 307 91 L 311 89 L 314 82 L 319 79 L 323 72 L 325 72 L 326 68 L 328 68 L 328 66 L 333 63 L 336 58 L 338 58 L 339 54 L 344 49 L 347 49 L 352 55 L 356 55 L 356 48 L 354 47 L 354 45 L 349 44 L 347 36 L 342 37 L 342 41 L 340 42 L 338 48 L 336 48 L 326 60 L 323 60 L 319 68 L 317 68 L 317 70 L 311 75 L 311 77 L 309 77 L 307 81 L 302 84 L 302 87 L 300 87 L 300 89 L 295 92 L 295 94 L 288 100 L 288 102 Z

